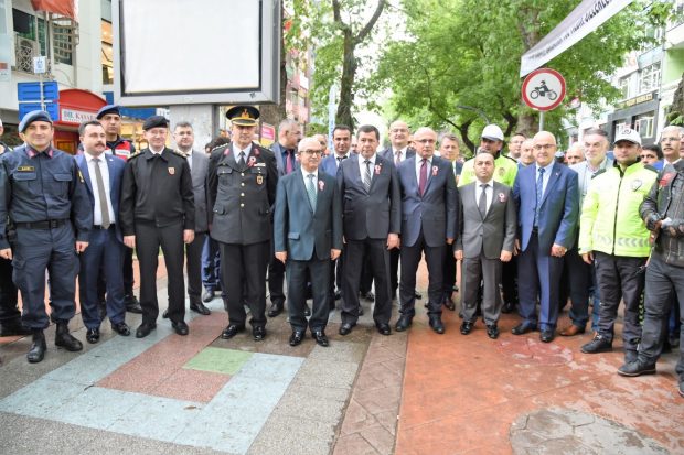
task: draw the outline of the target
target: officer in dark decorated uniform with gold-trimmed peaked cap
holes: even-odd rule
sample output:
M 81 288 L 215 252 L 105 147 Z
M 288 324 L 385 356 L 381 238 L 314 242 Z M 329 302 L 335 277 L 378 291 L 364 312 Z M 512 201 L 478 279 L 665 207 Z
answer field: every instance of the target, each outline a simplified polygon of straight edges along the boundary
M 228 326 L 221 337 L 233 338 L 245 329 L 246 302 L 252 335 L 258 342 L 266 336 L 266 268 L 278 169 L 274 153 L 252 141 L 259 111 L 235 106 L 226 117 L 232 122 L 233 141 L 212 152 L 209 166 L 210 232 L 218 242 L 227 294 Z

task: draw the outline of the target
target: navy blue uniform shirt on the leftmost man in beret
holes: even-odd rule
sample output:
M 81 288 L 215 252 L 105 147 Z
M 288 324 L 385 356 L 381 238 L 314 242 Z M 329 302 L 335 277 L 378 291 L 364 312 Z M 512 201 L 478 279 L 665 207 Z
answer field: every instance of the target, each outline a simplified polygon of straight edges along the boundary
M 88 241 L 93 208 L 76 160 L 61 150 L 52 156 L 25 145 L 0 158 L 0 249 L 9 248 L 7 220 L 34 223 L 71 219 L 77 241 Z

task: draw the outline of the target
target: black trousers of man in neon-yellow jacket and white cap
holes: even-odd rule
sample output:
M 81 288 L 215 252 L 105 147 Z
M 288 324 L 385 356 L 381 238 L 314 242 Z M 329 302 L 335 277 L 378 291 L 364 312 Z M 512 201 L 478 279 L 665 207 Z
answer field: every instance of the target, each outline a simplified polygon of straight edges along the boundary
M 620 301 L 624 302 L 624 349 L 637 350 L 641 339 L 639 304 L 644 288 L 648 258 L 628 258 L 595 251 L 596 280 L 601 294 L 598 333 L 612 342 Z

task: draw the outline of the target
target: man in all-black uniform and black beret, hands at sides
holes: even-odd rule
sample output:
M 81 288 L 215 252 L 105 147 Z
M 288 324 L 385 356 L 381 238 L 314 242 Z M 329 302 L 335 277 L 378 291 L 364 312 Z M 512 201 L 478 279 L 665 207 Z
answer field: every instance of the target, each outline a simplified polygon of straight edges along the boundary
M 142 129 L 149 148 L 126 162 L 119 203 L 124 243 L 136 248 L 140 264 L 142 324 L 136 337 L 143 338 L 157 328 L 160 246 L 169 275 L 168 316 L 177 334 L 188 335 L 183 242 L 191 243 L 195 234 L 192 176 L 185 155 L 164 147 L 169 134 L 165 118 L 152 116 Z

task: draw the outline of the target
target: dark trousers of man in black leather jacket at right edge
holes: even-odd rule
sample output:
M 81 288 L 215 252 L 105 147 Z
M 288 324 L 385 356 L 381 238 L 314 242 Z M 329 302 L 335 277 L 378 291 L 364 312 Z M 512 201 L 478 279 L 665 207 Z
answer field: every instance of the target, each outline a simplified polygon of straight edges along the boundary
M 678 305 L 680 315 L 684 314 L 684 268 L 665 263 L 659 254 L 653 254 L 645 273 L 645 317 L 639 345 L 641 360 L 655 364 L 660 357 L 673 305 Z M 684 339 L 684 317 L 680 316 L 680 321 L 683 322 L 680 339 Z M 684 349 L 681 347 L 675 371 L 680 381 L 684 380 Z

